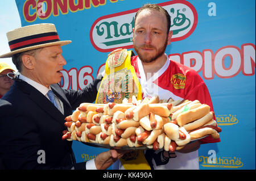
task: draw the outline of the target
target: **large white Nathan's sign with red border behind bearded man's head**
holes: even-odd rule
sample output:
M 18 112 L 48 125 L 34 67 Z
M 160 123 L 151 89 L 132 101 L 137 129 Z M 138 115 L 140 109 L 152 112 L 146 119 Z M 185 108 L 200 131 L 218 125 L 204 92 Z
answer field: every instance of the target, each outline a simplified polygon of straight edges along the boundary
M 196 28 L 197 12 L 187 1 L 159 3 L 171 16 L 172 41 L 187 38 Z M 118 12 L 98 18 L 90 29 L 90 41 L 101 52 L 116 48 L 133 48 L 134 16 L 139 9 Z

